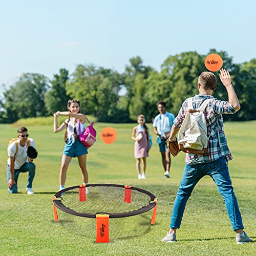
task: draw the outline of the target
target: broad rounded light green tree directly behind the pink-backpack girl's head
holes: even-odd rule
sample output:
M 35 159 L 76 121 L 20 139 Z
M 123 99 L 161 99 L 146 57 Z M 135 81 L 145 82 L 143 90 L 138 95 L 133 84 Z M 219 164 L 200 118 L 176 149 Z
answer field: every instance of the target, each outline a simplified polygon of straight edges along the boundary
M 66 89 L 72 98 L 80 100 L 82 113 L 92 114 L 102 120 L 116 108 L 120 83 L 122 76 L 116 71 L 78 65 Z

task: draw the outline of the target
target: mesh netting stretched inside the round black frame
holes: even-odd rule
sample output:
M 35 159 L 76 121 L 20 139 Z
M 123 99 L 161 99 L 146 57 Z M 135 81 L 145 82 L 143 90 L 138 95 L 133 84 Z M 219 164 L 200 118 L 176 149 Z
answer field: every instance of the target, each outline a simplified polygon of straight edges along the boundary
M 62 193 L 60 199 L 57 198 L 57 200 L 59 200 L 60 202 L 58 202 L 56 206 L 61 210 L 68 212 L 69 214 L 75 214 L 74 212 L 93 215 L 103 213 L 109 214 L 110 216 L 113 214 L 118 215 L 128 212 L 140 214 L 142 212 L 152 209 L 155 206 L 155 203 L 152 202 L 154 195 L 143 189 L 140 189 L 141 191 L 131 189 L 131 203 L 124 202 L 124 187 L 117 187 L 114 185 L 97 185 L 88 186 L 86 187 L 86 189 L 90 192 L 88 193 L 87 191 L 86 201 L 79 201 L 79 187 L 77 186 L 75 188 L 65 191 L 65 193 Z M 56 194 L 56 196 L 57 195 L 58 193 Z M 74 212 L 67 211 L 67 208 L 73 210 Z M 137 213 L 135 211 L 137 211 Z M 118 216 L 114 218 L 118 218 Z

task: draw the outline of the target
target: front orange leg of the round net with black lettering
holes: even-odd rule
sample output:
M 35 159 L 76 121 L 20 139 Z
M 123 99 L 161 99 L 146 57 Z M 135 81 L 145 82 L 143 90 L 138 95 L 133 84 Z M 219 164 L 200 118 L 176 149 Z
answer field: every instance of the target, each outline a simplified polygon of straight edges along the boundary
M 109 243 L 109 215 L 96 215 L 96 243 Z

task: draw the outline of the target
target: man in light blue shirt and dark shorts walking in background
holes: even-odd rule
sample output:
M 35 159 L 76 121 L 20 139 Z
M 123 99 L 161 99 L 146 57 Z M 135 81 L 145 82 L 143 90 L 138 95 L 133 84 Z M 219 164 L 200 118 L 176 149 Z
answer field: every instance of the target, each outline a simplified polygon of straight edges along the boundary
M 159 151 L 162 156 L 162 163 L 164 167 L 163 178 L 170 178 L 169 169 L 171 160 L 165 141 L 170 135 L 170 130 L 172 130 L 175 116 L 174 114 L 166 111 L 166 103 L 164 101 L 159 101 L 157 103 L 157 109 L 160 114 L 155 117 L 153 122 L 154 133 L 158 136 L 157 143 L 159 145 Z

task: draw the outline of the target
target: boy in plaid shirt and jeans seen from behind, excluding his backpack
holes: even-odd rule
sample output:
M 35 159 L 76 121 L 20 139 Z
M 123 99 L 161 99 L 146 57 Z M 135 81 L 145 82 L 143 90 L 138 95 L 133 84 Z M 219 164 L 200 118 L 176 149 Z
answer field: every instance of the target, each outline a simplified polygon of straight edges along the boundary
M 217 88 L 216 77 L 213 73 L 203 72 L 198 78 L 199 95 L 193 97 L 194 109 L 199 109 L 204 100 L 212 99 L 204 111 L 207 123 L 207 136 L 209 136 L 207 151 L 201 155 L 186 154 L 185 168 L 170 220 L 170 230 L 162 239 L 163 242 L 176 242 L 176 229 L 180 228 L 186 202 L 196 184 L 205 175 L 209 175 L 214 180 L 225 201 L 230 222 L 233 230 L 237 233 L 237 243 L 241 244 L 252 241 L 243 231 L 244 226 L 237 198 L 234 195 L 229 177 L 227 162 L 232 159 L 232 155 L 227 146 L 222 119 L 222 114 L 234 114 L 239 111 L 240 104 L 232 87 L 229 72 L 221 69 L 220 79 L 227 90 L 228 101 L 218 100 L 211 96 L 212 92 Z M 169 141 L 176 140 L 175 135 L 179 132 L 187 113 L 188 104 L 186 99 L 174 120 Z

